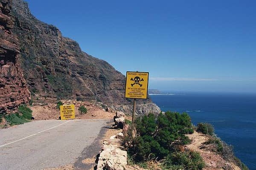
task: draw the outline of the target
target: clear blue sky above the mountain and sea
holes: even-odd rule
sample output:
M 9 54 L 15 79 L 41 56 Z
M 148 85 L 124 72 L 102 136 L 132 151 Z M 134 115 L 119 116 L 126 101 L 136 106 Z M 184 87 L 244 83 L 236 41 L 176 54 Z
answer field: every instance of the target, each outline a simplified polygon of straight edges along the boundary
M 254 0 L 26 0 L 82 51 L 163 91 L 256 92 Z

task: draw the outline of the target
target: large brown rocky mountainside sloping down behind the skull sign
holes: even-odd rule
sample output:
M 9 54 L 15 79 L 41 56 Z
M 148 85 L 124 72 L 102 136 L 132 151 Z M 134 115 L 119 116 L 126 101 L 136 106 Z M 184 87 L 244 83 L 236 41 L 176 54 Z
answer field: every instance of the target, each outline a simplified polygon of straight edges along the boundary
M 12 14 L 12 31 L 20 41 L 21 67 L 32 96 L 131 103 L 124 98 L 125 76 L 107 62 L 81 51 L 76 41 L 62 37 L 55 26 L 37 20 L 23 0 L 13 0 Z

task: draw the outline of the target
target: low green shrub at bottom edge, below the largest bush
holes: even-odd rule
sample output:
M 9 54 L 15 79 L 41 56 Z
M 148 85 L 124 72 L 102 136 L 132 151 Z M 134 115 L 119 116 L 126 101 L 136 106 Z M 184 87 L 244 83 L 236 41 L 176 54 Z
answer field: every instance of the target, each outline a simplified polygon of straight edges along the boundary
M 198 152 L 174 152 L 166 156 L 163 169 L 171 170 L 202 170 L 205 163 Z

